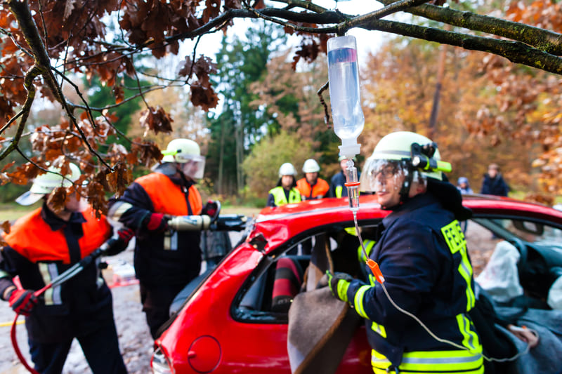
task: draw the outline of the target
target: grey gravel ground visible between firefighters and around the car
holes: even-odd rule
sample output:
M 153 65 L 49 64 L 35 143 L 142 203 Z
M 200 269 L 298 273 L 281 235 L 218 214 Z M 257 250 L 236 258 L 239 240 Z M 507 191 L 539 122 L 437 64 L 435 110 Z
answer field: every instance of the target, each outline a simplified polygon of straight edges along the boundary
M 481 272 L 488 258 L 490 258 L 495 243 L 490 240 L 490 233 L 488 231 L 475 224 L 469 225 L 466 236 L 469 238 L 469 251 L 476 276 Z M 231 233 L 230 240 L 233 246 L 237 243 L 238 239 L 240 239 L 240 233 Z M 122 260 L 132 264 L 132 247 L 107 260 L 112 263 Z M 107 270 L 104 272 L 106 279 L 112 278 Z M 126 367 L 131 374 L 150 373 L 152 338 L 146 325 L 145 314 L 141 309 L 138 284 L 112 288 L 112 294 L 115 324 L 119 335 L 119 347 L 121 348 Z M 0 374 L 27 373 L 27 370 L 25 370 L 15 355 L 11 344 L 10 328 L 13 317 L 14 314 L 8 303 L 0 302 Z M 27 347 L 27 333 L 22 323 L 23 317 L 20 317 L 19 321 L 20 324 L 17 328 L 18 345 L 27 361 L 31 363 Z M 72 343 L 63 374 L 91 374 L 91 370 L 84 359 L 84 354 L 82 354 L 76 340 Z

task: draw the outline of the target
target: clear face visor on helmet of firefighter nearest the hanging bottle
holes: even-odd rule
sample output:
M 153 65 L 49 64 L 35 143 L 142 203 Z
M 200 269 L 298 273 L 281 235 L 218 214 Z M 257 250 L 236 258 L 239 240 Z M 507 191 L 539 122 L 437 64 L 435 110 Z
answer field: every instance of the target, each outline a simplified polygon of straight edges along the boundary
M 361 173 L 359 189 L 363 192 L 381 192 L 386 191 L 389 186 L 401 188 L 401 181 L 409 172 L 405 161 L 367 159 Z M 400 183 L 399 178 L 402 178 Z M 393 183 L 388 183 L 388 180 L 393 180 Z

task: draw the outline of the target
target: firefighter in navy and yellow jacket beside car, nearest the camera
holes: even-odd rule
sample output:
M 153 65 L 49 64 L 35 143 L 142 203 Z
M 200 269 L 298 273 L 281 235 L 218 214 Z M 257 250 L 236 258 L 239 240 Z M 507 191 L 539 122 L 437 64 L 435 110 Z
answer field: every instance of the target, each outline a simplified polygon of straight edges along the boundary
M 375 192 L 390 211 L 376 243 L 367 243 L 389 297 L 372 274 L 368 283 L 328 274 L 329 286 L 365 319 L 374 373 L 483 373 L 481 342 L 468 316 L 475 303 L 472 267 L 459 225 L 470 211 L 443 173 L 416 168 L 414 159 L 436 165 L 436 144 L 416 133 L 391 133 L 361 178 L 362 190 Z

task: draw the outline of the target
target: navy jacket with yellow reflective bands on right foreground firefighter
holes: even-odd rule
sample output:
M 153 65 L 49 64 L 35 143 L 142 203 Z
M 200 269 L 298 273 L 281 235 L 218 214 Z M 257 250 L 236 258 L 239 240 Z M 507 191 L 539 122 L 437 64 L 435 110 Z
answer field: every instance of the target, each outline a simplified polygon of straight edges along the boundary
M 368 271 L 370 283 L 353 280 L 347 295 L 366 320 L 374 373 L 386 373 L 392 366 L 400 373 L 483 373 L 482 346 L 467 315 L 475 297 L 459 222 L 433 195 L 422 194 L 382 223 L 381 238 L 366 244 L 388 294 L 438 338 L 464 349 L 439 342 L 400 312 Z

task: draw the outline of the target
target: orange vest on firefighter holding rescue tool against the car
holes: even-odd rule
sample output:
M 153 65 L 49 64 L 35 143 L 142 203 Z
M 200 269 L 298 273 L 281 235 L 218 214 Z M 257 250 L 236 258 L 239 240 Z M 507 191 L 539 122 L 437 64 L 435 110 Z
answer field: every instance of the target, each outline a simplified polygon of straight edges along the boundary
M 189 213 L 188 203 L 185 202 L 185 193 L 179 185 L 162 173 L 150 173 L 135 180 L 145 189 L 155 213 L 169 215 L 198 215 L 203 210 L 201 195 L 195 185 L 189 187 L 188 203 L 191 207 Z

